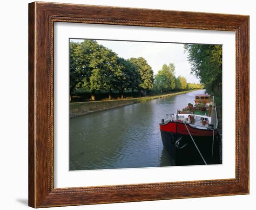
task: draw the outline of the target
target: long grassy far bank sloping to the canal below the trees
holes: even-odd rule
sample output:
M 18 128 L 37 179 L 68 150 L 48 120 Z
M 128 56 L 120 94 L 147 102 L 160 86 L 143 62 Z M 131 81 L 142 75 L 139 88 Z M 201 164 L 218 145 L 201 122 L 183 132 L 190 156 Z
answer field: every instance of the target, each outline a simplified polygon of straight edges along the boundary
M 200 89 L 197 89 L 197 90 L 200 90 Z M 155 96 L 147 96 L 147 97 L 141 97 L 141 98 L 70 103 L 69 105 L 70 118 L 74 118 L 74 117 L 78 117 L 81 115 L 90 114 L 94 112 L 99 112 L 103 110 L 108 110 L 108 109 L 112 109 L 112 108 L 116 108 L 124 105 L 131 105 L 131 104 L 146 102 L 146 101 L 154 100 L 156 98 L 175 96 L 175 95 L 183 94 L 186 92 L 192 92 L 192 91 L 195 91 L 195 90 L 175 92 L 175 93 L 155 95 Z

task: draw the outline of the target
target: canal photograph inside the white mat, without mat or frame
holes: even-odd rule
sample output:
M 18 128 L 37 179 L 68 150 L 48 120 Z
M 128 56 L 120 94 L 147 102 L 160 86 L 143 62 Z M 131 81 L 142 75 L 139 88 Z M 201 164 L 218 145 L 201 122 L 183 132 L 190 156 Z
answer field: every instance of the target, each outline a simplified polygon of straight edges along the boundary
M 68 41 L 69 171 L 222 164 L 222 45 Z

